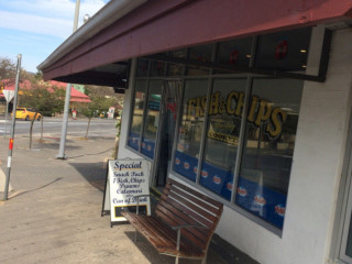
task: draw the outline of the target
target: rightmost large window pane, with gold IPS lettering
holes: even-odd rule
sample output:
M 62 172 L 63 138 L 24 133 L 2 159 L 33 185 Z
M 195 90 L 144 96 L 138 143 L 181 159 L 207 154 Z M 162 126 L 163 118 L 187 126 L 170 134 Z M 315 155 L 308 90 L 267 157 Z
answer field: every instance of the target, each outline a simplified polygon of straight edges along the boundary
M 235 204 L 282 229 L 302 81 L 253 81 Z

